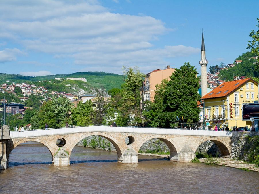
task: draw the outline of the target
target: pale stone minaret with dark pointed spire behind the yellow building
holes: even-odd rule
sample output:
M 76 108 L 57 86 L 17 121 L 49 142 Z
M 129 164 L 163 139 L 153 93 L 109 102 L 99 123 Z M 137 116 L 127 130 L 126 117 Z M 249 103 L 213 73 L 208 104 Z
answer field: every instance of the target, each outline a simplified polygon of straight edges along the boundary
M 201 97 L 207 94 L 207 64 L 208 61 L 205 55 L 205 46 L 204 46 L 204 39 L 203 39 L 203 32 L 202 32 L 202 40 L 201 40 Z

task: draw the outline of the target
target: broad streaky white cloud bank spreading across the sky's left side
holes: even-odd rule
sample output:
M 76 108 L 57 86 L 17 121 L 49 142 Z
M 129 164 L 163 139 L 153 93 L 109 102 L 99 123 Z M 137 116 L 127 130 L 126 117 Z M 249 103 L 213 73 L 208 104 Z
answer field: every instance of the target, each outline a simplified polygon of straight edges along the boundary
M 173 43 L 156 48 L 154 43 L 161 35 L 177 30 L 166 28 L 161 20 L 111 13 L 96 0 L 76 2 L 3 0 L 0 37 L 15 41 L 29 52 L 72 59 L 71 69 L 98 70 L 98 66 L 104 66 L 109 72 L 121 71 L 122 65 L 150 70 L 165 66 L 168 59 L 200 52 L 200 49 Z M 16 60 L 16 55 L 2 53 L 1 60 L 0 53 L 0 62 L 10 60 Z M 35 64 L 44 63 L 31 63 L 31 66 Z

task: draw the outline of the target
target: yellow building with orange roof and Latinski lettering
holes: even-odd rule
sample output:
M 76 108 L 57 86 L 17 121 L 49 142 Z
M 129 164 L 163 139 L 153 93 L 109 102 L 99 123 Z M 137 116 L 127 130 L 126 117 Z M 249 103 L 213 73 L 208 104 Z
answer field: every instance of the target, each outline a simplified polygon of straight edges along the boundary
M 251 78 L 225 82 L 207 93 L 204 101 L 204 118 L 213 128 L 228 126 L 250 127 L 251 121 L 242 120 L 242 107 L 258 101 L 258 83 Z

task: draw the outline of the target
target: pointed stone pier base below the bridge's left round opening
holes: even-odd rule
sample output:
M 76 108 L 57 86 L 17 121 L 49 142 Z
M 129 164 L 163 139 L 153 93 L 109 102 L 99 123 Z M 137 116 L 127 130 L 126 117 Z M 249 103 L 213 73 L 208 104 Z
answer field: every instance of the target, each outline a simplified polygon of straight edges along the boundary
M 52 164 L 54 166 L 69 166 L 70 156 L 63 147 L 60 147 L 53 157 Z

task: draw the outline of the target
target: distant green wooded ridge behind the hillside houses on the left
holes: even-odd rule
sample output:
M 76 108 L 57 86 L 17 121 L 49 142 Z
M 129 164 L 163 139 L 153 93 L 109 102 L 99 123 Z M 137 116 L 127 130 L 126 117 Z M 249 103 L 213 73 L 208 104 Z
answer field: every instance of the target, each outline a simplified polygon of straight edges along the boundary
M 75 81 L 75 80 L 64 80 L 57 81 L 54 78 L 86 78 L 87 82 Z M 86 92 L 92 93 L 94 88 L 103 87 L 106 91 L 112 88 L 120 88 L 123 83 L 122 75 L 105 73 L 105 72 L 77 72 L 72 74 L 56 74 L 47 76 L 22 76 L 16 74 L 4 74 L 0 73 L 0 84 L 10 82 L 28 84 L 36 84 L 37 86 L 42 85 L 50 91 L 65 91 L 67 93 L 78 93 L 80 89 Z M 40 82 L 39 82 L 40 81 Z M 49 82 L 50 81 L 50 82 Z M 66 86 L 70 85 L 70 86 Z

